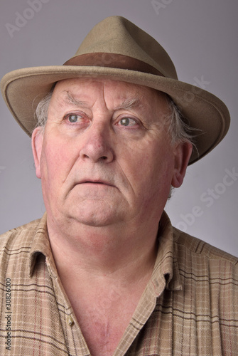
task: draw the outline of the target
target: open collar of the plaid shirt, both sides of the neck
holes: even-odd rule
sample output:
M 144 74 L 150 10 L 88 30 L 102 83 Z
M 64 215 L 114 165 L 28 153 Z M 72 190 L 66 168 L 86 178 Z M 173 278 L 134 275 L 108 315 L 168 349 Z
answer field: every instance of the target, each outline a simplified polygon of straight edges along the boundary
M 158 228 L 158 253 L 148 288 L 156 296 L 161 295 L 163 289 L 180 290 L 178 263 L 173 248 L 173 226 L 165 211 L 161 216 Z M 29 260 L 29 276 L 33 274 L 37 256 L 43 253 L 50 276 L 57 278 L 58 273 L 50 248 L 47 229 L 47 214 L 40 219 L 36 234 L 33 237 Z

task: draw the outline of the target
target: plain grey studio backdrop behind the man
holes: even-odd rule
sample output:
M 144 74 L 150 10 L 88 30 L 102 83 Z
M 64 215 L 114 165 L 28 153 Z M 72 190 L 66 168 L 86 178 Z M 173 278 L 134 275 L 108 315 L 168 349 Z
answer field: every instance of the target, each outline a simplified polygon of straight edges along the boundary
M 35 10 L 30 6 L 34 1 L 38 4 Z M 238 172 L 237 1 L 155 3 L 156 9 L 151 0 L 1 1 L 0 74 L 23 67 L 64 63 L 92 26 L 107 16 L 125 16 L 148 31 L 168 51 L 180 80 L 198 86 L 203 81 L 206 90 L 225 101 L 232 117 L 225 140 L 188 168 L 183 186 L 176 189 L 166 210 L 174 226 L 238 256 L 238 179 L 230 178 L 229 187 L 222 183 L 227 169 Z M 19 23 L 19 14 L 28 19 Z M 2 98 L 0 115 L 2 233 L 42 216 L 45 209 L 40 180 L 34 172 L 30 139 L 13 120 Z M 209 189 L 218 192 L 214 191 L 210 204 L 201 199 L 209 197 Z M 198 207 L 199 214 L 194 216 Z

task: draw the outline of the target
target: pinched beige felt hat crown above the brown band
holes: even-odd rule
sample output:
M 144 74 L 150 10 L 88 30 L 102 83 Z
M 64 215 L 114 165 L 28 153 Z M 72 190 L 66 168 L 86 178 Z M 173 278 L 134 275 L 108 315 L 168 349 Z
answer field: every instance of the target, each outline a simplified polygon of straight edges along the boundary
M 163 47 L 148 33 L 121 16 L 107 17 L 92 28 L 75 57 L 86 53 L 128 56 L 156 68 L 165 77 L 178 79 L 175 66 Z

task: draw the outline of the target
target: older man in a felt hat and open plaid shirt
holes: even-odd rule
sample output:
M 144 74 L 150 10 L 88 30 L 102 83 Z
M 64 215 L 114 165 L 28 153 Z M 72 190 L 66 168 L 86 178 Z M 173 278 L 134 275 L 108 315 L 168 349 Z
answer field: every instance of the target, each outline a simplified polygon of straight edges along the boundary
M 225 105 L 119 16 L 1 87 L 46 208 L 1 236 L 1 355 L 237 355 L 237 258 L 163 211 L 225 136 Z

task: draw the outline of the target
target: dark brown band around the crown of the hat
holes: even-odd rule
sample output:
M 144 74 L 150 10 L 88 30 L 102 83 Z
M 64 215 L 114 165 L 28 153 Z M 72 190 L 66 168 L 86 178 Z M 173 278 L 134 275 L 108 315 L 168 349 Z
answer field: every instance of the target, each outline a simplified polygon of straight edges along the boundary
M 85 53 L 70 58 L 63 66 L 96 66 L 136 70 L 143 73 L 164 75 L 153 66 L 139 59 L 117 53 Z

